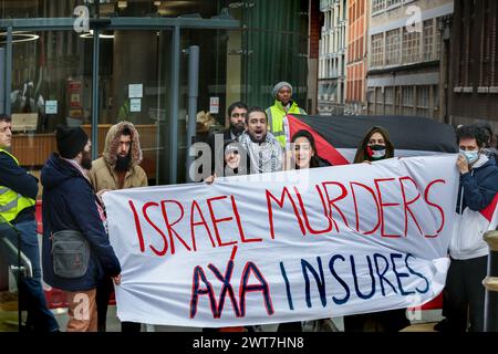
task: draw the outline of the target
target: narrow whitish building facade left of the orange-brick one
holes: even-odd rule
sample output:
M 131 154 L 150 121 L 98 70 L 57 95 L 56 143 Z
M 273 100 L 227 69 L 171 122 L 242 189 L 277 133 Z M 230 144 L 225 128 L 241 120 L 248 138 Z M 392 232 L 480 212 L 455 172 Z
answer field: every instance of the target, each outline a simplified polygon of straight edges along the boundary
M 323 13 L 319 61 L 319 113 L 343 114 L 346 90 L 346 31 L 345 0 L 321 0 Z

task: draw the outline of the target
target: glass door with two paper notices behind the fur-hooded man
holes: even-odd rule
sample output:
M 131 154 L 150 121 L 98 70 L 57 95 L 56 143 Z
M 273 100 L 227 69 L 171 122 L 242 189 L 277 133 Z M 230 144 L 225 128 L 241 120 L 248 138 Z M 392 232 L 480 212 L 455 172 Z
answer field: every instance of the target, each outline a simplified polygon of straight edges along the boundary
M 89 40 L 92 38 L 89 35 Z M 149 185 L 168 183 L 172 30 L 106 29 L 100 34 L 98 156 L 111 125 L 139 134 Z

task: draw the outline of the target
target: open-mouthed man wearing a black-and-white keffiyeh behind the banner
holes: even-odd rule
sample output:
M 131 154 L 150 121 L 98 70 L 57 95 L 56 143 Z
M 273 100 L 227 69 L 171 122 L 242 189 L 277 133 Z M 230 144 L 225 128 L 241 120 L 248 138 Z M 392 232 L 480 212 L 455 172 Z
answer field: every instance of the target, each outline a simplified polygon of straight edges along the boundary
M 251 174 L 274 173 L 283 168 L 283 150 L 274 136 L 268 132 L 268 116 L 260 107 L 249 108 L 246 117 L 247 132 L 238 140 L 247 152 L 248 170 Z

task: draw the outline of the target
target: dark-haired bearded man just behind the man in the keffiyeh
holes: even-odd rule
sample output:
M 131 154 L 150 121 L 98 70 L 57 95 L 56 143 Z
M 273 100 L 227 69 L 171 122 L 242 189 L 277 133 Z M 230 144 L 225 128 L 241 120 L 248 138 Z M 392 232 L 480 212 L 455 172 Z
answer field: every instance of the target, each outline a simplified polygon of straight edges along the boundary
M 236 140 L 246 131 L 247 105 L 243 102 L 234 102 L 228 107 L 229 127 L 221 133 L 214 134 L 209 140 L 211 148 L 211 173 L 216 169 L 216 162 L 224 166 L 224 146 L 227 140 Z

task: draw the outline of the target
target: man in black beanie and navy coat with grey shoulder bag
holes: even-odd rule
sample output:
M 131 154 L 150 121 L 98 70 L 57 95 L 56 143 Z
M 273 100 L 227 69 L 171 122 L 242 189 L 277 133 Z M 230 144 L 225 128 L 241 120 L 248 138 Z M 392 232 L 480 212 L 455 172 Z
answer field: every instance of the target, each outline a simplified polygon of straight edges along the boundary
M 105 231 L 104 209 L 93 191 L 87 177 L 92 168 L 91 142 L 81 128 L 56 128 L 59 154 L 46 160 L 41 171 L 43 185 L 43 279 L 53 287 L 66 292 L 69 303 L 68 332 L 96 332 L 97 313 L 95 294 L 98 280 L 112 277 L 115 284 L 121 282 L 121 266 L 108 242 Z M 53 236 L 59 231 L 72 233 L 74 241 L 86 249 L 90 259 L 86 264 L 85 252 L 74 258 L 65 242 L 63 253 L 54 253 Z M 76 235 L 77 239 L 76 239 Z M 68 275 L 73 267 L 82 268 L 84 274 Z

